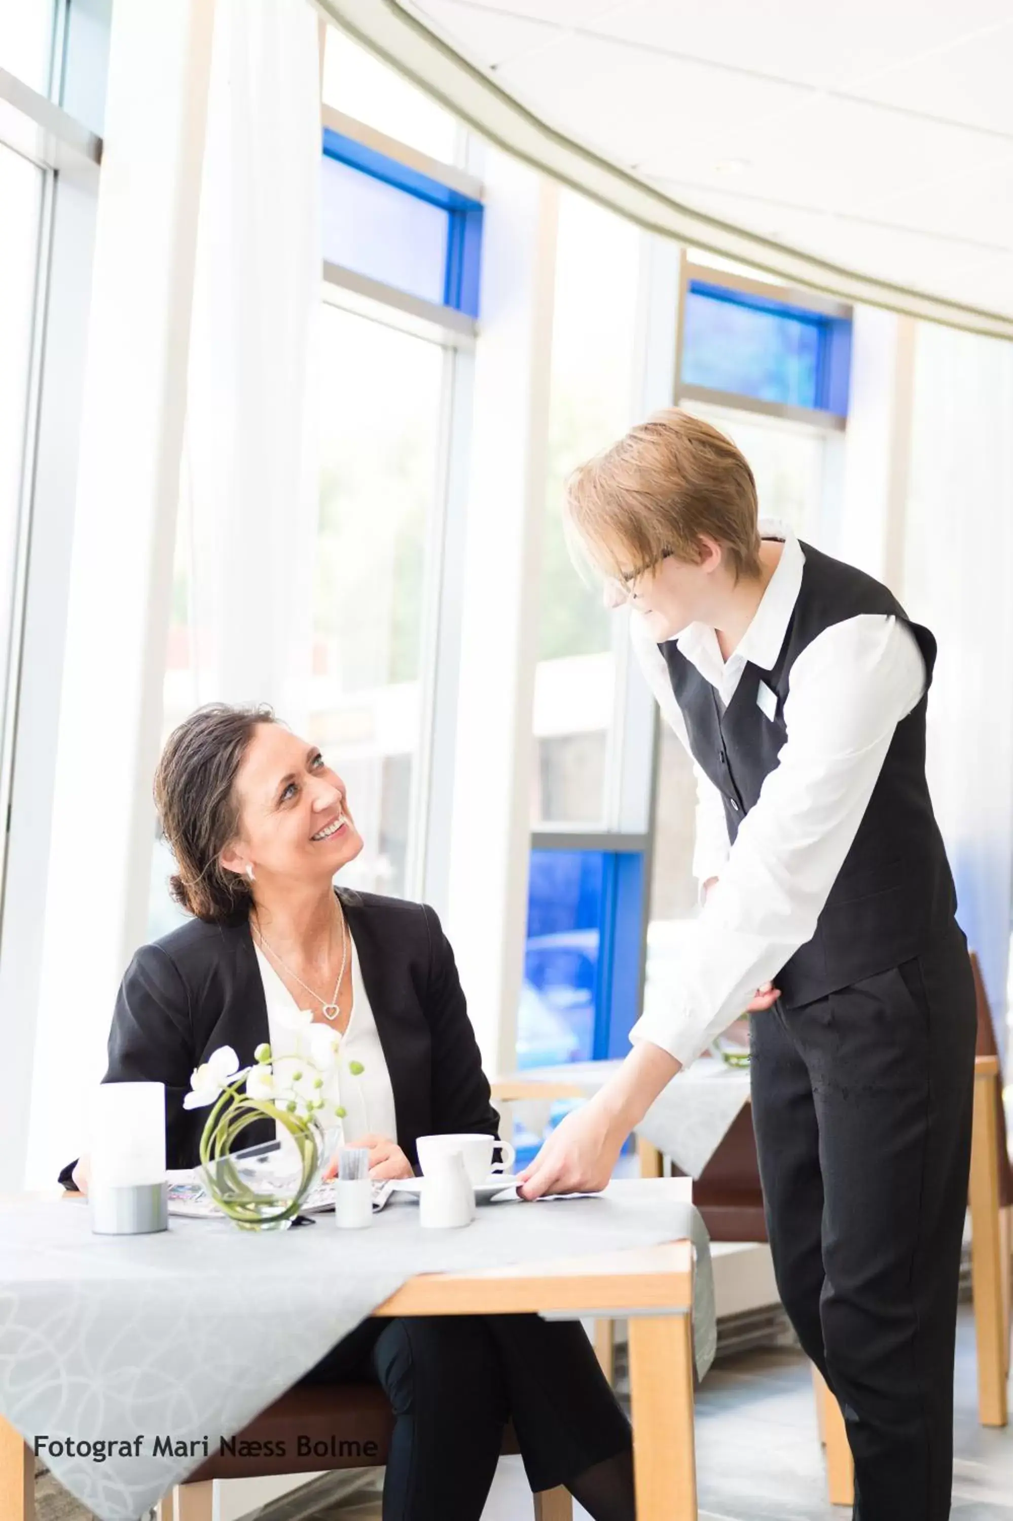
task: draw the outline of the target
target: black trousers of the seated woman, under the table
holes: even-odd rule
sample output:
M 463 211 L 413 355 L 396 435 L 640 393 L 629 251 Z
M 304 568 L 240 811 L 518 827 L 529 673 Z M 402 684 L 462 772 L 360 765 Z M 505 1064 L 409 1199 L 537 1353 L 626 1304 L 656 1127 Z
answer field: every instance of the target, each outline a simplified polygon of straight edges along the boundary
M 631 1445 L 584 1328 L 538 1316 L 364 1320 L 303 1383 L 376 1383 L 394 1408 L 383 1521 L 479 1521 L 506 1419 L 532 1491 Z

